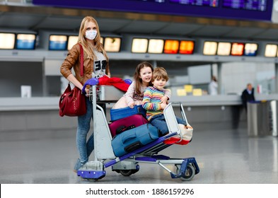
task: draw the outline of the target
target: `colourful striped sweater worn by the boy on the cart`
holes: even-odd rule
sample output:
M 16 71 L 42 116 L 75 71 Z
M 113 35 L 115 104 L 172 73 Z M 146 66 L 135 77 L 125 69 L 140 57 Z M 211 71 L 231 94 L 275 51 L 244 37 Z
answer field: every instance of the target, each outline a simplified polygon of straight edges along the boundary
M 151 117 L 158 114 L 163 114 L 161 109 L 161 98 L 165 95 L 166 90 L 158 90 L 153 86 L 146 88 L 142 105 L 146 110 L 146 118 L 151 120 Z

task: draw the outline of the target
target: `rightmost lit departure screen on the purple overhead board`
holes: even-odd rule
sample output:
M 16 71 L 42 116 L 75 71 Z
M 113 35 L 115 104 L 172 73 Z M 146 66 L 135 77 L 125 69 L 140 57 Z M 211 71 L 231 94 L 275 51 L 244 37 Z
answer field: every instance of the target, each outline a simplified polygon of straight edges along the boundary
M 223 0 L 224 8 L 267 11 L 267 0 Z

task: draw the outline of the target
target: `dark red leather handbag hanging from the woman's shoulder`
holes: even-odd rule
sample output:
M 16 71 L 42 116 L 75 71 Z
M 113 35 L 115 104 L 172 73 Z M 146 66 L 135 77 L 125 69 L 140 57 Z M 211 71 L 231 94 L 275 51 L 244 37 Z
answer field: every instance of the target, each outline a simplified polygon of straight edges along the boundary
M 79 44 L 80 45 L 80 44 Z M 83 47 L 80 45 L 80 73 L 81 78 L 83 76 Z M 64 93 L 59 100 L 59 115 L 66 116 L 79 116 L 86 114 L 86 96 L 82 94 L 82 91 L 74 87 L 71 90 L 71 85 L 67 86 Z

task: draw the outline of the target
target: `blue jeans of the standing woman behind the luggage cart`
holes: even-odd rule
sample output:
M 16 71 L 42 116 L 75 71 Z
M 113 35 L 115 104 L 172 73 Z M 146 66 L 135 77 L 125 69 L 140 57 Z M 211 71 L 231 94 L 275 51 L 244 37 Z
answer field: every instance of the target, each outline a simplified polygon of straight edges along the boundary
M 74 167 L 75 170 L 79 170 L 82 165 L 88 162 L 88 158 L 94 148 L 93 134 L 91 134 L 87 141 L 87 134 L 91 126 L 90 122 L 93 120 L 93 104 L 88 97 L 86 97 L 86 110 L 85 115 L 77 117 L 76 146 L 79 151 L 79 159 Z

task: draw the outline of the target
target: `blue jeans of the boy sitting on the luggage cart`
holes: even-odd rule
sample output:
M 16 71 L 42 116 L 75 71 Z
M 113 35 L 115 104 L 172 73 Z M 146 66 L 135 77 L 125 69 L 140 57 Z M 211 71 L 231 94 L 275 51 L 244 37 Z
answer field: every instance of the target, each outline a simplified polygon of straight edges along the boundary
M 181 119 L 180 117 L 176 117 L 178 124 L 186 124 L 185 120 Z M 154 125 L 154 127 L 158 128 L 161 131 L 162 135 L 167 134 L 168 127 L 163 114 L 155 115 L 151 118 L 150 123 Z

